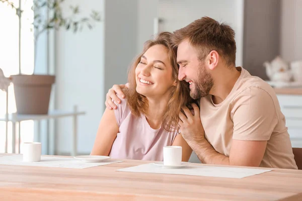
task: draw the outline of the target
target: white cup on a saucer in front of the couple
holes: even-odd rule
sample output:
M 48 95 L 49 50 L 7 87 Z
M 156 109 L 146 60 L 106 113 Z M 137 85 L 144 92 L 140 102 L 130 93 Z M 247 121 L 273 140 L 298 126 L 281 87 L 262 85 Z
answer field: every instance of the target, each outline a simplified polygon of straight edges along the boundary
M 181 165 L 182 147 L 165 146 L 164 147 L 164 165 Z

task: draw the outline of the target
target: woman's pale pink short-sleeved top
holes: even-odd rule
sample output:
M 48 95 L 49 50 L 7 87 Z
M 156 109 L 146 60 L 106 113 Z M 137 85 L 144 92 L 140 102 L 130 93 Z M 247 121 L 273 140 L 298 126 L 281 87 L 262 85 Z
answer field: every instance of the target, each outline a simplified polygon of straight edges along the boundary
M 172 145 L 177 131 L 168 132 L 163 126 L 152 129 L 144 115 L 137 118 L 131 114 L 127 99 L 114 110 L 119 133 L 113 142 L 109 156 L 118 159 L 163 161 L 163 147 Z

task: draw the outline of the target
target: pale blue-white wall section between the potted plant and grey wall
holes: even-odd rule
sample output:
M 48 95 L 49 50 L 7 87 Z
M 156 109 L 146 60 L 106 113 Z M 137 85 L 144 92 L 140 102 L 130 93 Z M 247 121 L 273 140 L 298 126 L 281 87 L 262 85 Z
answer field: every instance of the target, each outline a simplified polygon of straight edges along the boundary
M 83 15 L 90 11 L 104 11 L 104 1 L 68 0 L 69 5 L 79 5 Z M 104 22 L 95 24 L 93 30 L 83 29 L 74 34 L 60 30 L 56 34 L 56 100 L 59 110 L 71 111 L 73 105 L 85 111 L 79 117 L 78 151 L 91 150 L 104 111 Z M 72 119 L 62 118 L 56 124 L 57 154 L 69 153 L 71 148 Z

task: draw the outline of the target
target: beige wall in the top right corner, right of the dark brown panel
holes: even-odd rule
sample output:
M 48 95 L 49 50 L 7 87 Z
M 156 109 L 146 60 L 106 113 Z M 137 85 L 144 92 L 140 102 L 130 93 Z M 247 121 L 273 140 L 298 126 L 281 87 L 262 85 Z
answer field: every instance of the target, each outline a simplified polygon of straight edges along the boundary
M 302 60 L 302 1 L 281 1 L 280 54 L 286 61 Z

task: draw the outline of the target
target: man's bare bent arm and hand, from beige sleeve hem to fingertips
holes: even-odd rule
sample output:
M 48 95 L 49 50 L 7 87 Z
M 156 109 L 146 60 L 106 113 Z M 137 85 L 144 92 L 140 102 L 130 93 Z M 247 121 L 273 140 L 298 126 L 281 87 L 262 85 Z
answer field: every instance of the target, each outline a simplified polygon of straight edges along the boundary
M 183 138 L 196 153 L 202 163 L 220 165 L 259 166 L 263 158 L 266 141 L 234 140 L 230 157 L 216 152 L 204 137 L 204 129 L 200 120 L 200 110 L 192 104 L 194 115 L 184 107 L 179 117 L 179 126 Z

